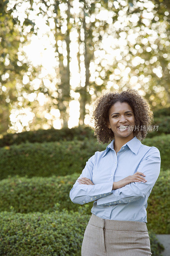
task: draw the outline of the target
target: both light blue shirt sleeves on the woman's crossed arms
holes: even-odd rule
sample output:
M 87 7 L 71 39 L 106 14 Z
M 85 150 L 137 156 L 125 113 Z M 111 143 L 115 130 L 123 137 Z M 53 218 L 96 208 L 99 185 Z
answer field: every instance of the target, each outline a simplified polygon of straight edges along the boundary
M 86 177 L 92 180 L 92 169 L 94 156 L 87 162 L 79 178 Z M 147 182 L 131 182 L 122 188 L 112 190 L 113 182 L 100 183 L 96 185 L 79 184 L 78 180 L 70 191 L 73 203 L 85 204 L 97 200 L 97 205 L 124 204 L 144 198 L 151 190 L 160 173 L 160 153 L 152 147 L 140 163 L 137 171 L 143 172 Z

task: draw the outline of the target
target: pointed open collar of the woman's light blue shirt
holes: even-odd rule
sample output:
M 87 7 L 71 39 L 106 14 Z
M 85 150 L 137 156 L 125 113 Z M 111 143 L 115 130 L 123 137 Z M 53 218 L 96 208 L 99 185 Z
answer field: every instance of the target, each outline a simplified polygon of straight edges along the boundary
M 104 157 L 104 156 L 107 154 L 107 152 L 109 151 L 110 148 L 111 148 L 112 150 L 114 150 L 114 147 L 113 147 L 114 141 L 115 141 L 115 139 L 112 140 L 109 145 L 107 145 L 106 151 L 105 151 L 105 153 L 104 153 L 104 155 L 103 155 L 102 157 Z M 133 139 L 131 139 L 131 140 L 129 140 L 128 142 L 126 142 L 122 147 L 125 147 L 125 146 L 127 145 L 127 146 L 130 148 L 130 150 L 131 150 L 133 153 L 135 153 L 135 155 L 137 155 L 137 152 L 138 152 L 138 150 L 139 150 L 141 144 L 142 144 L 141 141 L 138 140 L 137 137 L 135 136 L 135 137 L 133 137 Z M 120 150 L 122 150 L 122 147 L 121 147 Z

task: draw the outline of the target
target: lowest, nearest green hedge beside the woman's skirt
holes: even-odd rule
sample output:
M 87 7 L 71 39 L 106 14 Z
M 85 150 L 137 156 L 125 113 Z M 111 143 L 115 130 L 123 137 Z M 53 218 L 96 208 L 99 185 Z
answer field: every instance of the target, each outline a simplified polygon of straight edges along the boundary
M 91 215 L 63 210 L 50 214 L 0 212 L 0 255 L 79 256 Z M 162 256 L 164 246 L 148 231 L 152 256 Z

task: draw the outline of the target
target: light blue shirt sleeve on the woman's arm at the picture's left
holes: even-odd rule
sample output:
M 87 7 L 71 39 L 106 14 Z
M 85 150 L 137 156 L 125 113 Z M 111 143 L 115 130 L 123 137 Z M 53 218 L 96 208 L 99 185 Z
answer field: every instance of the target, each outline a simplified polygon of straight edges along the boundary
M 96 153 L 89 158 L 86 162 L 85 168 L 83 169 L 81 177 L 86 177 L 92 180 L 92 171 Z M 85 204 L 94 201 L 98 198 L 105 197 L 111 194 L 113 188 L 113 182 L 100 183 L 95 185 L 79 184 L 76 180 L 73 188 L 70 190 L 70 199 L 74 204 Z

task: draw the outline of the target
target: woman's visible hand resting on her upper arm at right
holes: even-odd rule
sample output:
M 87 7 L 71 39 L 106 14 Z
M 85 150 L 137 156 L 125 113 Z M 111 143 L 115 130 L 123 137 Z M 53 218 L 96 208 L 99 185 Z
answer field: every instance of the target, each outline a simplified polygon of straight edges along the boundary
M 145 178 L 143 178 L 142 176 L 146 176 L 143 172 L 136 172 L 133 175 L 129 175 L 128 177 L 113 182 L 113 188 L 112 189 L 117 189 L 117 188 L 122 188 L 124 186 L 126 186 L 127 184 L 131 183 L 131 182 L 145 182 L 147 180 L 145 180 Z

